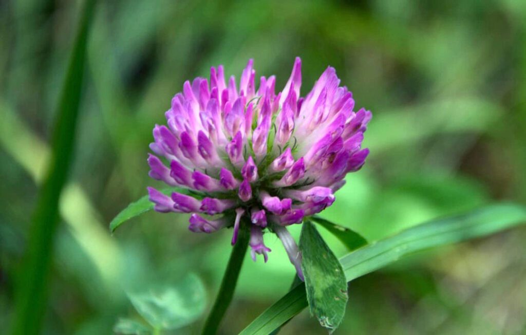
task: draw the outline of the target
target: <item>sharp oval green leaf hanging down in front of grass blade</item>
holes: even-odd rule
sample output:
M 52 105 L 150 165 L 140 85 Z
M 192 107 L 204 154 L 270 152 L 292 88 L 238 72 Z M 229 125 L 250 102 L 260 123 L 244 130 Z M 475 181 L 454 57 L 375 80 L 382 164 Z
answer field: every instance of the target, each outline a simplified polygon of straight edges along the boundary
M 332 333 L 345 315 L 348 300 L 343 269 L 309 220 L 301 228 L 299 248 L 310 313 Z

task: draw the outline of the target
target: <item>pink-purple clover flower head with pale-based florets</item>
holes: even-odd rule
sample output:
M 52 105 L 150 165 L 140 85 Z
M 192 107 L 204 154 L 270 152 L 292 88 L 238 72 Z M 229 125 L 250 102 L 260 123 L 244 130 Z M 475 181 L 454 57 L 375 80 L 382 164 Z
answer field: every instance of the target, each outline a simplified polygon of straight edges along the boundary
M 361 143 L 371 112 L 354 110 L 332 67 L 301 97 L 299 57 L 277 94 L 274 76 L 261 77 L 256 90 L 253 63 L 239 86 L 234 76 L 226 81 L 220 65 L 173 97 L 166 125 L 153 130 L 149 176 L 188 192 L 148 188 L 149 199 L 159 212 L 191 213 L 191 231 L 233 227 L 232 244 L 245 220 L 254 260 L 267 261 L 263 233 L 275 232 L 302 278 L 301 254 L 286 226 L 332 205 L 346 174 L 365 163 L 369 150 Z

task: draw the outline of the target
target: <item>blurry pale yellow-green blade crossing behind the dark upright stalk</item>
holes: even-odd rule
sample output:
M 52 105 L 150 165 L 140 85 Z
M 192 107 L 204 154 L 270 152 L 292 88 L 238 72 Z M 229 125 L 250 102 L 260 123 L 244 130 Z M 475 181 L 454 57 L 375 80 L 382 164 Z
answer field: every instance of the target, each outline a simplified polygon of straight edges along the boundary
M 47 170 L 50 158 L 49 146 L 34 135 L 19 115 L 1 98 L 0 114 L 3 116 L 0 118 L 0 147 L 27 172 L 36 186 L 40 186 L 44 177 L 42 172 Z M 78 183 L 69 182 L 64 186 L 60 195 L 59 213 L 78 248 L 89 256 L 95 266 L 95 273 L 100 275 L 99 279 L 104 282 L 104 290 L 117 292 L 113 288 L 121 279 L 119 272 L 122 269 L 124 253 L 117 241 L 102 228 L 105 225 L 100 220 L 102 215 Z M 61 243 L 60 240 L 56 242 Z M 82 276 L 80 273 L 76 275 Z M 95 277 L 93 279 L 96 280 Z

